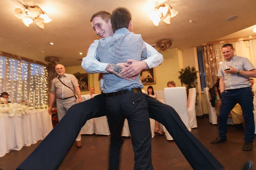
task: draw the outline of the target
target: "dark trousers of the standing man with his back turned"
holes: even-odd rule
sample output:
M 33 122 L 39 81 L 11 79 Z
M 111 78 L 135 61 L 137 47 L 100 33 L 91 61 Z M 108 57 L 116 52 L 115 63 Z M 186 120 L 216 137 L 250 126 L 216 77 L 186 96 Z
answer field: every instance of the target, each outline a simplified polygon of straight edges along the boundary
M 111 133 L 109 169 L 119 169 L 120 148 L 123 143 L 121 132 L 127 118 L 134 157 L 134 169 L 153 169 L 149 114 L 143 93 L 129 93 L 107 97 L 107 117 Z

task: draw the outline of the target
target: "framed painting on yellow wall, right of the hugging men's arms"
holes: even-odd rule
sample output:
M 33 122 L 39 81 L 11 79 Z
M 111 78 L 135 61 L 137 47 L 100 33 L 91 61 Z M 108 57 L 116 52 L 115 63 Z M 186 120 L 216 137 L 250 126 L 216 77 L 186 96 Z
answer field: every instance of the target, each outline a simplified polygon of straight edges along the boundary
M 141 71 L 140 80 L 143 85 L 156 84 L 155 69 L 144 69 Z

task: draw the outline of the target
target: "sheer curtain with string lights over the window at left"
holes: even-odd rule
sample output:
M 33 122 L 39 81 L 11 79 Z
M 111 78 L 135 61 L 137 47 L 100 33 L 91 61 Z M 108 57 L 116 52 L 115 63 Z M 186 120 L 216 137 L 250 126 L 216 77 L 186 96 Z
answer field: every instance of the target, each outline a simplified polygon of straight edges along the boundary
M 47 104 L 46 67 L 0 56 L 0 93 L 2 92 L 9 93 L 11 102 L 27 100 L 31 105 Z

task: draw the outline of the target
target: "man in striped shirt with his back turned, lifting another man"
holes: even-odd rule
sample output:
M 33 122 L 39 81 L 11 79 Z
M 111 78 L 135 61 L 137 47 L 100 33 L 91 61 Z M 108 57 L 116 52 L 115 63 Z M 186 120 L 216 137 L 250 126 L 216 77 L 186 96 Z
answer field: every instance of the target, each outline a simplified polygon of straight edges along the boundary
M 113 36 L 100 39 L 96 49 L 96 59 L 103 63 L 112 63 L 108 69 L 114 74 L 103 74 L 108 124 L 111 133 L 110 169 L 118 169 L 121 132 L 125 118 L 128 120 L 133 151 L 134 169 L 153 169 L 151 162 L 151 131 L 146 99 L 142 94 L 143 84 L 140 74 L 135 79 L 126 80 L 118 77 L 122 71 L 116 64 L 127 59 L 141 61 L 146 58 L 146 46 L 141 35 L 128 31 L 131 26 L 131 14 L 125 8 L 117 8 L 111 16 Z M 115 26 L 118 25 L 118 26 Z

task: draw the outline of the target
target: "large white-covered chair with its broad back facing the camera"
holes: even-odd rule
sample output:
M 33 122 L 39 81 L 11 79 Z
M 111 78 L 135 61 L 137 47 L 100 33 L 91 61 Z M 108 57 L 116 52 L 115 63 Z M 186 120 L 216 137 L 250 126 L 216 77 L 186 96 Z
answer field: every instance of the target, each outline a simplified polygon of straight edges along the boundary
M 187 92 L 185 87 L 164 88 L 165 104 L 173 107 L 179 114 L 185 126 L 191 131 L 187 116 Z M 170 133 L 164 128 L 167 140 L 173 140 Z

